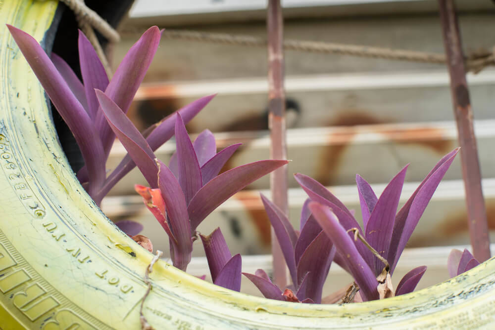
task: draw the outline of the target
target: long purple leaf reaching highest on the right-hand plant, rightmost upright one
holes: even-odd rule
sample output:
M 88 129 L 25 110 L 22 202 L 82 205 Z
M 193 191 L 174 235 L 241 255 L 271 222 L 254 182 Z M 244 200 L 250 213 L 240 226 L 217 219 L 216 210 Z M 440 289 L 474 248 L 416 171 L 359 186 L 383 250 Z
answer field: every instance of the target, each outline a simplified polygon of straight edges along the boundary
M 407 241 L 409 241 L 414 228 L 416 228 L 416 225 L 418 224 L 421 215 L 423 215 L 426 206 L 430 202 L 433 193 L 437 189 L 440 180 L 444 177 L 458 151 L 459 148 L 454 149 L 444 156 L 444 158 L 433 167 L 430 173 L 428 173 L 406 204 L 398 211 L 392 240 L 390 241 L 389 254 L 386 258 L 390 263 L 391 274 L 394 273 L 400 254 L 402 254 Z

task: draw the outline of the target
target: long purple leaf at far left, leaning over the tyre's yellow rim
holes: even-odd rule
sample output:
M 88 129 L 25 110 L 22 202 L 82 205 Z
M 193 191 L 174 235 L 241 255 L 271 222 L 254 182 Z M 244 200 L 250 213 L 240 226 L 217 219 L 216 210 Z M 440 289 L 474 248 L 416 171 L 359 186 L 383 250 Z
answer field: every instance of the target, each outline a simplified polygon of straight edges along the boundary
M 67 83 L 50 61 L 39 43 L 27 33 L 7 24 L 10 34 L 33 69 L 60 116 L 69 126 L 88 166 L 90 195 L 99 190 L 105 180 L 103 149 L 91 118 L 74 96 Z

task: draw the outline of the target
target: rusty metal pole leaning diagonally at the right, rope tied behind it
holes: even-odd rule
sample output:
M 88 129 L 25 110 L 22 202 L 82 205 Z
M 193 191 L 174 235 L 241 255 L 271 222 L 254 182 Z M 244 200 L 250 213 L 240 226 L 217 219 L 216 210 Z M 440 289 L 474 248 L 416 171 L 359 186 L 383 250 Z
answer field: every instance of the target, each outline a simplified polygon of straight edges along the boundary
M 481 188 L 481 171 L 473 127 L 473 111 L 464 68 L 461 37 L 453 0 L 439 0 L 440 20 L 450 75 L 450 91 L 461 146 L 462 176 L 466 191 L 469 234 L 474 257 L 479 261 L 490 258 L 490 238 L 487 212 Z

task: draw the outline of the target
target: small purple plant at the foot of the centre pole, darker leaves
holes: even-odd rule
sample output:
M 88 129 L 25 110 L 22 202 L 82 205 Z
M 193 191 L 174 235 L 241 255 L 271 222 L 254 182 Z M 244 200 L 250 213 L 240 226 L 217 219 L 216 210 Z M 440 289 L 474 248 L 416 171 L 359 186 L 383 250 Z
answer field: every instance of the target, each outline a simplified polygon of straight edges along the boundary
M 287 216 L 275 204 L 261 195 L 266 213 L 275 231 L 292 285 L 287 289 L 296 291 L 295 297 L 284 294 L 262 269 L 255 274 L 243 273 L 269 299 L 321 303 L 323 284 L 335 255 L 335 247 L 311 215 L 307 200 L 301 212 L 300 234 L 292 227 Z

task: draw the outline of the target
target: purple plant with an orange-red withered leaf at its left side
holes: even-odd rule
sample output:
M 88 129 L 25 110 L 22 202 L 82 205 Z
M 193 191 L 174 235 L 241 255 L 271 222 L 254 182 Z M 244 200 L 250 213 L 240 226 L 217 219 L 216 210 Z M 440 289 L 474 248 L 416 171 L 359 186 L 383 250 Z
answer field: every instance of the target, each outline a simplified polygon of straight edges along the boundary
M 217 175 L 239 144 L 216 153 L 213 134 L 205 131 L 191 143 L 179 113 L 175 120 L 176 173 L 157 160 L 147 140 L 122 110 L 102 91 L 96 91 L 102 112 L 150 185 L 138 186 L 145 204 L 169 237 L 175 267 L 186 270 L 191 261 L 196 229 L 201 221 L 229 197 L 287 161 L 266 160 L 230 169 Z M 149 137 L 148 137 L 149 138 Z M 156 195 L 159 189 L 160 196 Z

